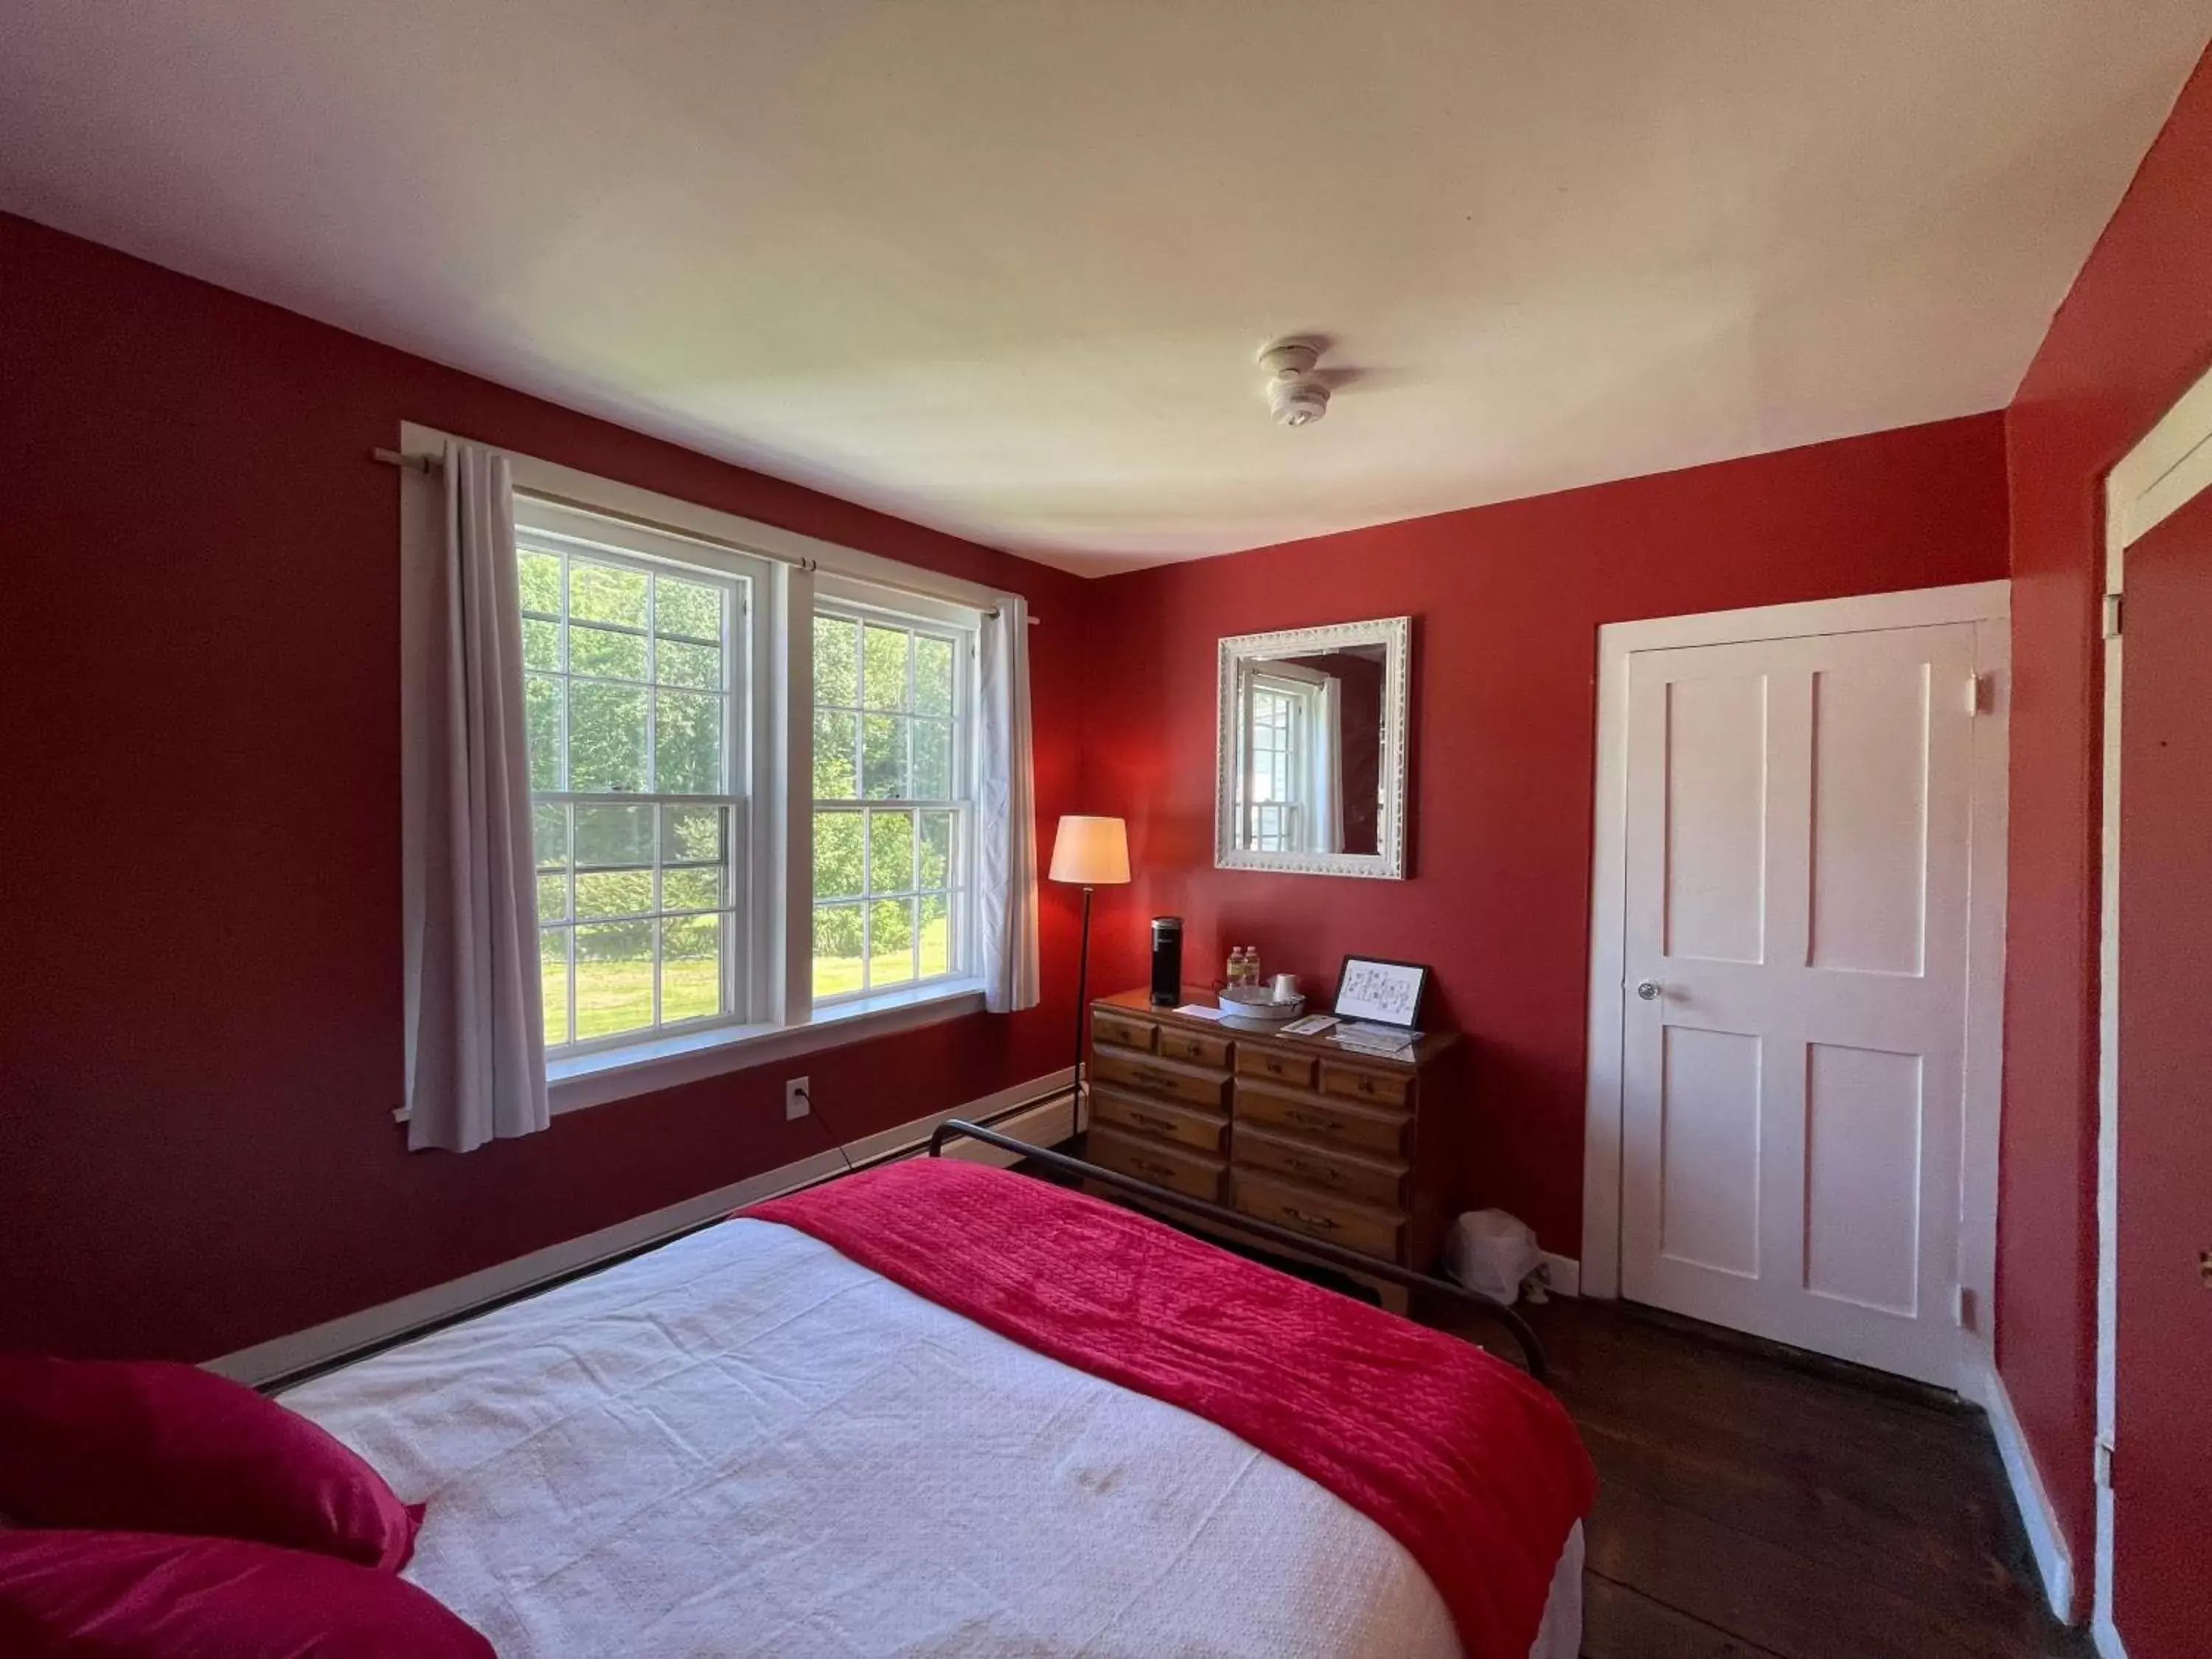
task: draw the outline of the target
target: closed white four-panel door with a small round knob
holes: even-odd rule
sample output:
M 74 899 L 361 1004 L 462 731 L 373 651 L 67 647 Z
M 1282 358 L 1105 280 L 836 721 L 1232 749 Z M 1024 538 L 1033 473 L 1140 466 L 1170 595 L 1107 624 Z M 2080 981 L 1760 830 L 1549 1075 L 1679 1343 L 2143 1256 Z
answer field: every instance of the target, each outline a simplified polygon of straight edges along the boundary
M 1971 624 L 1628 672 L 1621 1294 L 1958 1376 Z

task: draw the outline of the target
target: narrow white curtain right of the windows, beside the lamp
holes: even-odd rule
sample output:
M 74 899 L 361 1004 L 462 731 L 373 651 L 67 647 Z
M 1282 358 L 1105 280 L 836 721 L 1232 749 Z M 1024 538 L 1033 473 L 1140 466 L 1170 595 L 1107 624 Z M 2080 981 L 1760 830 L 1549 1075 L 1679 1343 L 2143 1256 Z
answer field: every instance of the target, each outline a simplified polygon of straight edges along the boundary
M 975 779 L 975 916 L 984 1006 L 1037 1006 L 1037 783 L 1029 761 L 1029 604 L 982 619 Z

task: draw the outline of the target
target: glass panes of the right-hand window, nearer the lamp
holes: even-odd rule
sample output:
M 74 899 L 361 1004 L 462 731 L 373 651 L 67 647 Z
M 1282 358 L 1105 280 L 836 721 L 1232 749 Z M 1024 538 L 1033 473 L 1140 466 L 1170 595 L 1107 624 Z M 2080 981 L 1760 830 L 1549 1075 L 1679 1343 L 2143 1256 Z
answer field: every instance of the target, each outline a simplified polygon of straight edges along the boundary
M 816 604 L 816 1004 L 967 971 L 973 661 L 951 622 Z

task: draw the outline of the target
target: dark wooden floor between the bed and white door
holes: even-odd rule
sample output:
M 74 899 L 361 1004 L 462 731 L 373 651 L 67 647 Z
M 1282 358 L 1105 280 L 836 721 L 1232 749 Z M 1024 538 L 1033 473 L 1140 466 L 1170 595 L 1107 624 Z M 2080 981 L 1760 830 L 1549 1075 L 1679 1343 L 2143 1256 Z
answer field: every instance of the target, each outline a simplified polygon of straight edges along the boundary
M 1599 1478 L 1584 1659 L 2093 1652 L 1980 1411 L 1617 1303 L 1528 1314 Z

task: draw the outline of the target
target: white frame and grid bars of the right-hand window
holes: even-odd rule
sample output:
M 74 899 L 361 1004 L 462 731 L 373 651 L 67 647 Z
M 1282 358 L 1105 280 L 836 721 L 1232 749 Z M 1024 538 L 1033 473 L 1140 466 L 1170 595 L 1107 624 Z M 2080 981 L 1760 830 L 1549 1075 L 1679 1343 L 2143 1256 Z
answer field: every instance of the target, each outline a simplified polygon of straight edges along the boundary
M 825 898 L 816 896 L 814 889 L 812 889 L 812 872 L 810 872 L 807 909 L 803 914 L 807 918 L 807 922 L 805 922 L 805 927 L 807 927 L 807 989 L 810 989 L 812 1006 L 814 1009 L 836 1009 L 836 1006 L 860 1002 L 860 1000 L 867 1000 L 867 998 L 874 998 L 874 995 L 883 995 L 887 991 L 907 991 L 907 989 L 927 991 L 929 987 L 936 987 L 936 984 L 956 984 L 956 982 L 973 980 L 973 973 L 975 973 L 975 960 L 973 960 L 973 956 L 975 956 L 975 712 L 978 712 L 978 699 L 982 695 L 982 688 L 978 684 L 978 639 L 975 637 L 978 637 L 978 622 L 980 619 L 978 619 L 978 615 L 973 611 L 960 611 L 960 608 L 947 606 L 947 604 L 931 604 L 929 599 L 920 599 L 920 597 L 905 595 L 905 593 L 885 593 L 883 588 L 874 588 L 874 586 L 863 584 L 863 582 L 849 582 L 849 580 L 838 580 L 838 577 L 830 577 L 830 575 L 816 577 L 816 582 L 814 582 L 814 615 L 849 617 L 849 619 L 858 622 L 863 628 L 869 622 L 876 622 L 876 624 L 883 624 L 883 626 L 900 628 L 900 630 L 905 630 L 905 633 L 909 633 L 914 637 L 936 637 L 936 639 L 949 641 L 951 648 L 953 648 L 953 710 L 951 710 L 951 745 L 953 745 L 953 752 L 951 752 L 951 794 L 942 796 L 942 799 L 929 799 L 929 801 L 925 801 L 920 796 L 874 799 L 874 796 L 867 794 L 867 781 L 860 779 L 860 776 L 854 776 L 854 787 L 858 790 L 858 796 L 854 796 L 854 799 L 810 799 L 810 803 L 807 803 L 807 812 L 810 812 L 810 818 L 807 818 L 810 841 L 812 841 L 812 814 L 821 814 L 821 812 L 858 812 L 860 814 L 860 823 L 863 823 L 863 830 L 860 830 L 860 860 L 863 860 L 863 880 L 860 880 L 860 887 L 863 887 L 863 891 L 860 891 L 858 900 L 847 900 L 845 896 L 836 896 L 836 898 L 827 898 L 825 900 Z M 812 628 L 812 624 L 810 624 L 810 628 Z M 863 675 L 865 675 L 865 657 L 867 657 L 865 633 L 863 633 L 863 650 L 860 650 L 860 655 L 863 655 Z M 909 730 L 909 743 L 907 743 L 909 785 L 911 785 L 911 761 L 914 761 L 914 745 L 911 745 L 911 730 L 914 730 L 914 726 L 911 726 L 911 721 L 914 719 L 927 719 L 927 717 L 920 717 L 920 714 L 911 712 L 911 706 L 914 706 L 914 666 L 911 664 L 914 664 L 914 657 L 909 653 L 909 659 L 907 659 L 907 710 L 909 712 L 900 714 L 900 719 L 907 721 L 907 730 Z M 810 675 L 810 679 L 812 679 L 812 675 Z M 865 703 L 865 688 L 863 688 L 860 697 L 863 697 L 863 703 Z M 867 712 L 869 710 L 865 706 L 854 710 L 854 714 L 860 714 L 860 717 L 865 717 Z M 810 697 L 810 706 L 807 706 L 810 732 L 812 732 L 812 719 L 814 719 L 814 701 Z M 865 754 L 865 743 L 863 743 L 863 754 Z M 810 783 L 810 796 L 812 796 L 812 768 L 807 770 L 807 783 Z M 872 953 L 869 953 L 869 931 L 872 931 L 869 909 L 872 909 L 874 900 L 876 898 L 900 898 L 900 896 L 916 896 L 916 898 L 920 898 L 920 896 L 929 896 L 929 894 L 940 891 L 940 889 L 927 889 L 925 891 L 918 883 L 909 885 L 905 889 L 905 894 L 889 894 L 889 891 L 887 894 L 876 894 L 874 891 L 874 887 L 872 887 L 872 883 L 867 878 L 869 860 L 874 858 L 874 836 L 867 834 L 867 814 L 869 812 L 914 812 L 916 814 L 916 830 L 914 830 L 914 834 L 916 834 L 916 845 L 914 845 L 916 865 L 920 865 L 920 814 L 922 812 L 951 812 L 951 816 L 953 816 L 953 836 L 951 836 L 951 847 L 947 852 L 947 865 L 949 865 L 947 867 L 947 887 L 942 889 L 945 898 L 947 898 L 947 927 L 949 927 L 949 933 L 951 933 L 951 940 L 949 940 L 949 967 L 945 969 L 945 973 L 933 973 L 929 978 L 920 975 L 920 936 L 916 936 L 916 940 L 914 940 L 914 958 L 911 958 L 916 978 L 900 980 L 894 987 L 880 987 L 880 989 L 878 987 L 869 987 L 865 982 L 865 973 L 867 973 L 867 969 L 872 964 Z M 843 993 L 836 993 L 836 995 L 830 995 L 830 998 L 814 998 L 812 995 L 812 984 L 814 984 L 812 918 L 814 918 L 814 905 L 821 905 L 821 902 L 830 902 L 830 905 L 858 902 L 860 918 L 863 918 L 863 933 L 860 933 L 863 984 L 856 991 L 843 991 Z

